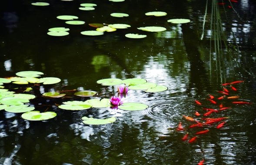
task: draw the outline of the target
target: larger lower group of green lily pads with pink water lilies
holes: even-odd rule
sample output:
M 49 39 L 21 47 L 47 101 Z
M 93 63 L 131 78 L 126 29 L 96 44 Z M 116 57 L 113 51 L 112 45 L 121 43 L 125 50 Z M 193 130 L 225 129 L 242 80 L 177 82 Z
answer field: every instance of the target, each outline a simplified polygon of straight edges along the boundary
M 4 83 L 15 83 L 15 84 L 29 84 L 32 83 L 36 86 L 47 85 L 47 84 L 55 84 L 60 82 L 61 80 L 56 77 L 45 77 L 38 78 L 40 75 L 43 75 L 42 72 L 37 71 L 23 71 L 16 73 L 16 77 L 7 77 L 0 78 L 0 110 L 5 110 L 11 113 L 23 113 L 21 117 L 23 119 L 39 121 L 39 120 L 47 120 L 54 118 L 57 114 L 55 112 L 40 112 L 35 111 L 35 107 L 31 106 L 30 100 L 35 99 L 36 96 L 32 94 L 25 93 L 15 93 L 16 89 L 11 89 L 14 91 L 9 91 L 9 89 L 4 89 Z M 58 108 L 64 110 L 84 110 L 90 108 L 106 108 L 112 107 L 114 109 L 122 109 L 122 110 L 144 110 L 147 109 L 148 106 L 138 102 L 126 102 L 123 103 L 121 100 L 123 95 L 125 95 L 129 89 L 134 90 L 145 90 L 145 92 L 161 92 L 167 90 L 166 86 L 159 86 L 152 82 L 147 82 L 146 79 L 101 79 L 96 83 L 101 84 L 103 86 L 118 86 L 118 97 L 113 96 L 110 99 L 87 99 L 86 101 L 67 101 L 62 102 L 62 105 L 58 105 Z M 23 92 L 29 92 L 33 90 L 31 87 L 27 87 L 23 90 Z M 65 91 L 62 91 L 65 92 Z M 84 90 L 75 92 L 75 96 L 80 97 L 94 97 L 97 96 L 97 92 Z M 122 94 L 122 95 L 121 95 Z M 55 98 L 63 98 L 66 94 L 60 92 L 45 92 L 42 96 L 46 99 L 55 99 Z M 94 119 L 94 118 L 82 118 L 83 123 L 85 124 L 106 124 L 115 122 L 116 118 L 112 117 L 109 119 Z

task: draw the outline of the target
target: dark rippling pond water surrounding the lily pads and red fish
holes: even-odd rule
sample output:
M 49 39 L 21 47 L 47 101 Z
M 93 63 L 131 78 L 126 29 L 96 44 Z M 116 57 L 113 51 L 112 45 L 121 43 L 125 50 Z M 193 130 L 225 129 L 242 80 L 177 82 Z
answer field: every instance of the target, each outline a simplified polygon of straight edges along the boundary
M 231 0 L 230 0 L 231 1 Z M 40 87 L 34 101 L 36 110 L 56 112 L 46 121 L 27 121 L 21 114 L 0 111 L 0 164 L 4 165 L 207 165 L 256 164 L 256 3 L 253 0 L 46 0 L 49 6 L 33 6 L 33 0 L 2 2 L 0 10 L 0 77 L 20 71 L 40 71 L 62 81 Z M 96 3 L 95 10 L 79 10 L 80 3 Z M 225 4 L 222 4 L 225 3 Z M 146 16 L 163 11 L 166 16 Z M 127 13 L 118 18 L 110 13 Z M 60 15 L 78 16 L 83 25 L 69 25 Z M 173 24 L 170 19 L 190 19 Z M 127 29 L 104 32 L 102 36 L 84 36 L 95 30 L 89 23 L 125 23 Z M 162 26 L 163 32 L 146 32 L 138 27 Z M 70 28 L 67 36 L 49 36 L 52 27 Z M 126 38 L 127 33 L 147 35 L 143 39 Z M 143 78 L 168 87 L 148 93 L 128 91 L 124 102 L 149 106 L 143 111 L 92 108 L 68 111 L 57 108 L 69 100 L 43 99 L 40 94 L 63 90 L 93 90 L 97 99 L 117 96 L 117 86 L 101 86 L 106 78 Z M 244 80 L 230 86 L 233 99 L 218 100 L 223 83 Z M 29 86 L 33 84 L 29 84 Z M 12 88 L 16 87 L 10 85 Z M 9 87 L 10 87 L 9 86 Z M 24 85 L 23 87 L 27 87 Z M 32 91 L 34 92 L 34 91 Z M 30 93 L 32 93 L 30 92 Z M 36 93 L 34 93 L 36 94 Z M 209 100 L 213 95 L 217 104 Z M 93 97 L 91 97 L 92 99 Z M 207 99 L 206 99 L 207 98 Z M 195 99 L 202 103 L 198 105 Z M 231 107 L 203 116 L 202 108 Z M 39 106 L 47 105 L 47 106 Z M 48 109 L 47 109 L 48 107 Z M 50 107 L 50 108 L 49 108 Z M 198 111 L 200 116 L 196 116 Z M 186 120 L 229 117 L 222 128 L 217 124 L 189 128 Z M 106 125 L 86 125 L 81 118 L 117 121 Z M 184 131 L 177 131 L 179 123 Z M 196 132 L 195 142 L 189 139 Z

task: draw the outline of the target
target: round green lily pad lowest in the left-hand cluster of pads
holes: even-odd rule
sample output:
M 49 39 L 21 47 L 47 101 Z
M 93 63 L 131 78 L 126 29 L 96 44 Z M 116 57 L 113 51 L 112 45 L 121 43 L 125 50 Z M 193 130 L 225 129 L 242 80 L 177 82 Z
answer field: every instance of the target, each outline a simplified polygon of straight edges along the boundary
M 43 112 L 40 113 L 40 111 L 30 111 L 25 112 L 21 115 L 23 119 L 31 120 L 31 121 L 40 121 L 40 120 L 48 120 L 52 119 L 57 115 L 55 112 Z

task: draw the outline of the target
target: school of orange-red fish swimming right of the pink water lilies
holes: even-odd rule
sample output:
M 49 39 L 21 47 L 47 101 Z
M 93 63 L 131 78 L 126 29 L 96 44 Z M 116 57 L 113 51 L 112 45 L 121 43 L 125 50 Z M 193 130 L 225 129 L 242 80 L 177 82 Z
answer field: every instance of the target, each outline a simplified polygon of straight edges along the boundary
M 222 84 L 223 91 L 217 91 L 217 92 L 221 93 L 223 96 L 220 96 L 220 97 L 215 99 L 215 97 L 213 95 L 209 94 L 207 96 L 209 98 L 206 98 L 206 99 L 209 100 L 211 103 L 213 103 L 215 105 L 217 104 L 217 102 L 216 102 L 217 100 L 221 100 L 221 99 L 238 99 L 239 96 L 229 96 L 229 97 L 227 97 L 227 95 L 229 95 L 229 90 L 230 89 L 233 90 L 233 91 L 237 91 L 237 89 L 233 85 L 241 83 L 241 82 L 244 82 L 244 81 L 234 81 L 234 82 L 230 82 L 230 83 L 224 83 L 224 84 Z M 199 106 L 203 106 L 202 103 L 199 102 L 198 100 L 195 100 L 195 103 L 197 105 L 199 105 Z M 232 103 L 233 104 L 252 104 L 251 102 L 243 102 L 243 101 L 234 101 Z M 202 111 L 200 111 L 200 112 L 204 113 L 204 114 L 202 114 L 203 116 L 209 116 L 212 113 L 220 112 L 220 111 L 228 110 L 228 109 L 231 109 L 231 107 L 223 107 L 223 103 L 221 103 L 221 104 L 218 105 L 217 109 L 202 107 Z M 206 111 L 206 112 L 204 112 L 204 111 Z M 196 111 L 195 115 L 197 117 L 199 117 L 201 114 L 198 111 Z M 187 121 L 195 123 L 195 124 L 190 125 L 188 128 L 202 127 L 204 129 L 203 131 L 196 132 L 195 135 L 191 135 L 191 138 L 189 137 L 190 136 L 189 132 L 186 132 L 185 135 L 181 138 L 181 140 L 187 141 L 188 143 L 195 142 L 196 139 L 199 137 L 199 135 L 206 134 L 207 132 L 209 132 L 210 129 L 209 128 L 205 129 L 205 126 L 207 127 L 207 126 L 210 125 L 211 128 L 213 128 L 213 125 L 216 125 L 216 126 L 214 126 L 214 128 L 220 129 L 222 127 L 225 127 L 226 122 L 228 122 L 228 120 L 226 120 L 226 119 L 229 119 L 229 117 L 222 117 L 222 118 L 197 118 L 197 119 L 194 119 L 193 117 L 186 116 L 186 115 L 183 115 L 183 117 Z M 180 122 L 178 124 L 178 127 L 176 129 L 176 131 L 186 131 L 186 130 L 187 129 L 184 129 L 184 127 L 182 125 L 182 122 Z M 198 165 L 203 165 L 204 161 L 205 161 L 204 159 L 201 160 L 198 163 Z

